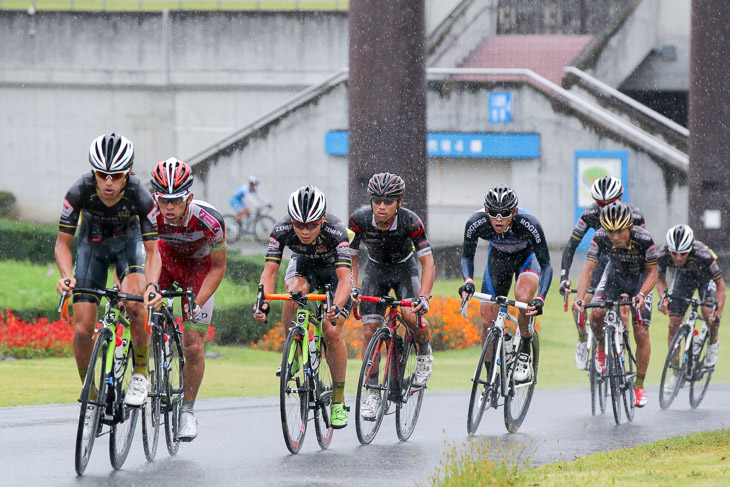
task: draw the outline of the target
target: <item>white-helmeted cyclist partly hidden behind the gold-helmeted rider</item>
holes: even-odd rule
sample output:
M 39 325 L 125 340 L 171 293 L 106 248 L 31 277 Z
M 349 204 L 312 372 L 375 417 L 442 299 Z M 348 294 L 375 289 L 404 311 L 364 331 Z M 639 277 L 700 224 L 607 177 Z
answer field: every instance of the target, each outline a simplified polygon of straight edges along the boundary
M 568 244 L 563 249 L 563 258 L 560 265 L 560 294 L 565 295 L 566 291 L 570 289 L 570 266 L 573 263 L 573 256 L 578 248 L 581 240 L 588 232 L 589 229 L 598 230 L 601 228 L 600 213 L 604 206 L 614 201 L 621 200 L 624 194 L 624 188 L 621 184 L 621 180 L 618 178 L 604 176 L 593 181 L 591 186 L 591 196 L 595 200 L 588 208 L 585 209 L 583 214 L 578 219 L 578 222 L 573 228 L 573 233 L 570 235 Z M 644 226 L 644 215 L 641 210 L 636 206 L 626 203 L 631 208 L 631 213 L 634 219 L 634 225 Z M 603 254 L 600 261 L 596 265 L 596 270 L 593 272 L 591 277 L 590 287 L 586 292 L 586 302 L 590 302 L 593 297 L 593 291 L 598 285 L 598 281 L 603 275 L 603 269 L 606 267 L 608 257 Z M 578 319 L 578 313 L 573 313 L 575 320 L 575 326 L 578 329 L 578 343 L 575 346 L 575 366 L 580 370 L 585 370 L 588 364 L 588 331 L 585 327 L 580 326 L 580 320 Z

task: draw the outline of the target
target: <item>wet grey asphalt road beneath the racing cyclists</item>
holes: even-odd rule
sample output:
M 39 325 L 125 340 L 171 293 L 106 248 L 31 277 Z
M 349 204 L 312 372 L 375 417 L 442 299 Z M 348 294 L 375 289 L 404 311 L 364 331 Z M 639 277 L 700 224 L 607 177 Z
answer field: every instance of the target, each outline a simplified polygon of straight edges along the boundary
M 730 425 L 730 385 L 712 384 L 696 410 L 688 390 L 668 411 L 658 405 L 657 388 L 634 422 L 616 426 L 609 410 L 590 413 L 588 388 L 536 390 L 518 434 L 504 428 L 502 410 L 485 412 L 478 435 L 466 434 L 467 392 L 428 392 L 411 440 L 395 434 L 395 416 L 386 416 L 378 436 L 360 446 L 350 425 L 335 432 L 321 451 L 313 425 L 298 455 L 284 446 L 278 398 L 199 400 L 199 436 L 169 457 L 161 431 L 157 458 L 147 463 L 138 425 L 129 458 L 121 471 L 109 464 L 108 437 L 97 439 L 83 477 L 74 472 L 78 406 L 0 408 L 0 484 L 2 485 L 427 485 L 451 444 L 470 441 L 517 443 L 534 464 L 572 460 L 589 453 L 649 443 L 694 431 Z M 353 398 L 348 397 L 353 405 Z

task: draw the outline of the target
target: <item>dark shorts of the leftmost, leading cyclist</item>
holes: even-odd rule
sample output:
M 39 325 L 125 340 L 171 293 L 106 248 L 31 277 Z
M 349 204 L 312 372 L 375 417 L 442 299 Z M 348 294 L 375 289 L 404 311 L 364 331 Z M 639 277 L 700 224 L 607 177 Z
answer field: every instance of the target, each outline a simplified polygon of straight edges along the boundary
M 109 267 L 114 265 L 119 281 L 135 272 L 144 274 L 146 258 L 139 227 L 129 228 L 123 235 L 91 242 L 88 237 L 79 238 L 76 253 L 76 287 L 104 289 L 107 285 Z M 91 294 L 75 294 L 74 303 L 99 303 Z

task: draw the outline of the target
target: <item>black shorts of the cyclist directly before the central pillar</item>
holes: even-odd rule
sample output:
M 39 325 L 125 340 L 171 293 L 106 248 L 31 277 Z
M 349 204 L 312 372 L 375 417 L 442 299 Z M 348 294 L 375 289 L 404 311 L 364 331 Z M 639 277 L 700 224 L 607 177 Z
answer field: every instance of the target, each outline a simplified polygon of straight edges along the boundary
M 398 299 L 417 298 L 421 289 L 416 258 L 400 264 L 378 264 L 368 260 L 362 277 L 362 293 L 365 296 L 387 296 L 395 291 Z M 363 323 L 382 323 L 386 306 L 377 303 L 360 303 Z

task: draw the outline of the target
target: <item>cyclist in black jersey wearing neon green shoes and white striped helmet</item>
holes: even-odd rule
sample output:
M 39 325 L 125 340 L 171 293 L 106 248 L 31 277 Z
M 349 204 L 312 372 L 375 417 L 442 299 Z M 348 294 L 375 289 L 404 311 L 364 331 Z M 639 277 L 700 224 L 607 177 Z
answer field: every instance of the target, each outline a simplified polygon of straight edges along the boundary
M 260 282 L 266 293 L 274 292 L 284 248 L 289 247 L 292 257 L 284 276 L 287 292 L 309 293 L 310 290 L 323 289 L 326 284 L 332 285 L 334 302 L 326 310 L 322 331 L 333 381 L 330 420 L 333 428 L 340 429 L 347 426 L 349 411 L 345 407 L 347 345 L 342 336 L 343 324 L 350 315 L 352 303 L 352 263 L 347 229 L 339 218 L 327 213 L 325 196 L 314 186 L 302 186 L 294 191 L 289 196 L 288 212 L 272 229 Z M 293 301 L 284 305 L 281 321 L 285 335 L 294 321 L 296 307 Z M 265 321 L 270 311 L 268 300 L 261 309 L 253 311 L 257 321 Z M 277 371 L 277 375 L 280 372 Z

